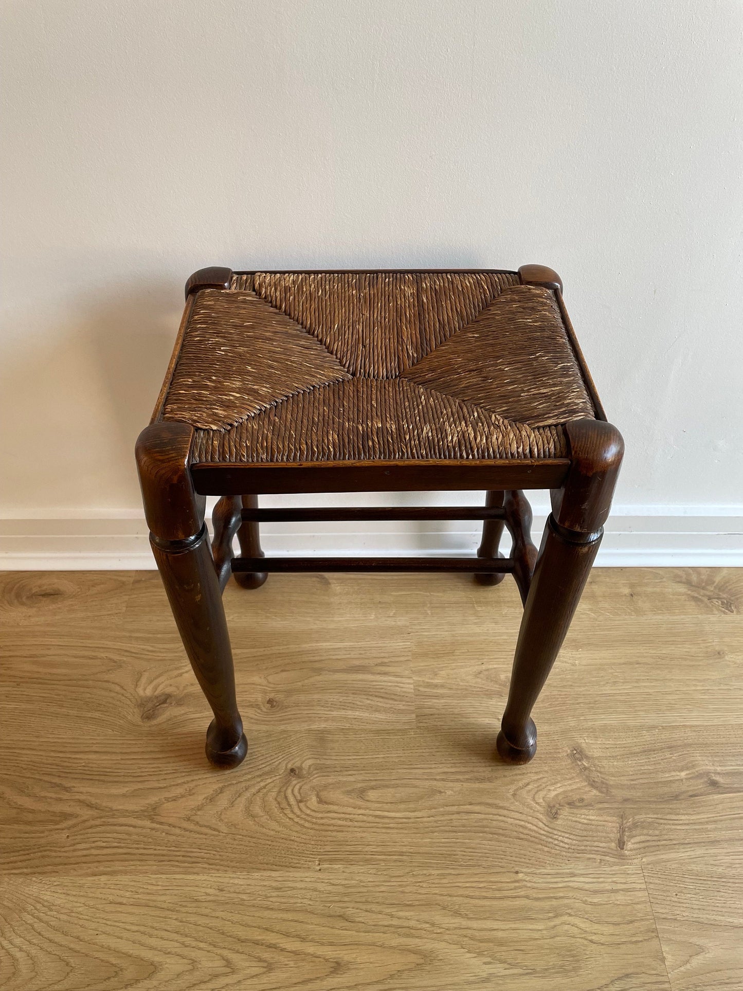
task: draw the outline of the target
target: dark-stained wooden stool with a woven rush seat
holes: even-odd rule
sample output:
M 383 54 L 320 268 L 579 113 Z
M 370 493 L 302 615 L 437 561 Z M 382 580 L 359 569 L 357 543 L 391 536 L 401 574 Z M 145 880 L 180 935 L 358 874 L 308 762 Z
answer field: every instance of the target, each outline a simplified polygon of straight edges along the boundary
M 534 756 L 531 711 L 598 550 L 622 459 L 551 269 L 202 269 L 137 462 L 162 582 L 214 713 L 208 758 L 248 743 L 221 593 L 275 571 L 457 571 L 524 603 L 500 756 Z M 483 508 L 260 509 L 263 493 L 486 490 Z M 522 490 L 549 489 L 542 546 Z M 220 495 L 214 540 L 205 496 Z M 477 557 L 266 558 L 268 520 L 481 519 Z M 498 554 L 503 526 L 509 557 Z M 234 557 L 237 534 L 241 556 Z

